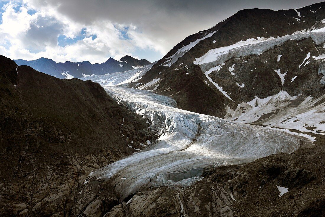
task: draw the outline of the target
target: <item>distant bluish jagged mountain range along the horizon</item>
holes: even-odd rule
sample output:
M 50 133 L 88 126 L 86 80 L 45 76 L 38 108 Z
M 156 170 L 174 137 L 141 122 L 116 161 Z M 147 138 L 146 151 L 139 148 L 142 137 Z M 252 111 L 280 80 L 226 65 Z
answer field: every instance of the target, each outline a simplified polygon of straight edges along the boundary
M 37 60 L 14 60 L 17 65 L 28 65 L 33 69 L 61 79 L 82 78 L 90 75 L 103 75 L 114 72 L 124 72 L 150 64 L 148 60 L 138 60 L 131 56 L 124 56 L 120 60 L 109 58 L 105 63 L 91 64 L 88 61 L 72 63 L 66 61 L 57 63 L 52 59 L 39 58 Z

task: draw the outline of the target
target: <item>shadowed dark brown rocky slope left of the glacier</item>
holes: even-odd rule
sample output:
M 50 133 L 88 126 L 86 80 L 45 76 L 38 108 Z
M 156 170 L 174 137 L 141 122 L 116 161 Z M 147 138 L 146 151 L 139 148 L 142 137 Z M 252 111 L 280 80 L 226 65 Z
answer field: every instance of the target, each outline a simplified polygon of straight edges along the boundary
M 155 140 L 145 119 L 97 83 L 57 79 L 4 56 L 0 72 L 0 216 L 87 213 L 103 192 L 81 194 L 91 171 L 135 152 L 131 140 Z

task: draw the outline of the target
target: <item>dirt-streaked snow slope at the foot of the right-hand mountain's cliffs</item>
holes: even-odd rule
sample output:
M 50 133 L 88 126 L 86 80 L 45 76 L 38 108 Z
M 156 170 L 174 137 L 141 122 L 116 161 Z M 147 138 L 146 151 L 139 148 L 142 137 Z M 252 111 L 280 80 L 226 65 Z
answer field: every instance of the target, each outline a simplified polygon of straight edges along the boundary
M 264 99 L 256 97 L 251 102 L 240 103 L 235 110 L 227 107 L 225 118 L 324 135 L 324 108 L 325 95 L 313 99 L 281 91 Z

